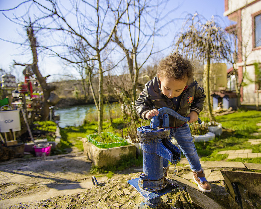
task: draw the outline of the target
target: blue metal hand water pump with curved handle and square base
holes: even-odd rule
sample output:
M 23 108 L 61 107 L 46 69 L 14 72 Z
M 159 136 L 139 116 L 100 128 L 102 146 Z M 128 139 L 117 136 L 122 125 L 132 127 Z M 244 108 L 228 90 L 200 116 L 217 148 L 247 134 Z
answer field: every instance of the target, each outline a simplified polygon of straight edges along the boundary
M 182 121 L 189 121 L 189 117 L 180 116 L 174 110 L 163 107 L 158 109 L 159 114 L 153 116 L 151 124 L 137 129 L 141 148 L 143 150 L 143 172 L 139 178 L 127 181 L 145 199 L 150 207 L 161 204 L 161 196 L 171 192 L 178 186 L 166 179 L 163 173 L 163 158 L 172 164 L 177 164 L 181 159 L 178 147 L 171 143 L 169 138 L 169 114 Z M 201 120 L 198 119 L 201 123 Z

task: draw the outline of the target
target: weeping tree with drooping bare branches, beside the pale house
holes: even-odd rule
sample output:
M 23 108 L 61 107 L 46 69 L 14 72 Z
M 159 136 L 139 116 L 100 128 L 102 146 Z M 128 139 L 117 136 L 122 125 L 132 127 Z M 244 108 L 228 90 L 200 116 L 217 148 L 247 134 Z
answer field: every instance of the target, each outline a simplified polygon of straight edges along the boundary
M 215 19 L 214 16 L 207 20 L 197 13 L 187 15 L 181 31 L 175 37 L 173 50 L 182 52 L 189 59 L 202 60 L 203 63 L 207 64 L 203 79 L 210 121 L 215 121 L 210 102 L 210 63 L 226 60 L 228 52 L 232 50 L 227 39 L 227 33 L 221 28 L 217 20 L 218 17 Z

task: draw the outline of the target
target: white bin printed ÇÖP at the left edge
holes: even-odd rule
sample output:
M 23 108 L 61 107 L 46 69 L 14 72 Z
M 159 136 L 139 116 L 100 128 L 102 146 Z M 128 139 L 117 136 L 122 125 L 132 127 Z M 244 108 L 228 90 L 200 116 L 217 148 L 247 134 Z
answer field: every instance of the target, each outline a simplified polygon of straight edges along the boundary
M 20 110 L 0 111 L 0 132 L 21 131 Z

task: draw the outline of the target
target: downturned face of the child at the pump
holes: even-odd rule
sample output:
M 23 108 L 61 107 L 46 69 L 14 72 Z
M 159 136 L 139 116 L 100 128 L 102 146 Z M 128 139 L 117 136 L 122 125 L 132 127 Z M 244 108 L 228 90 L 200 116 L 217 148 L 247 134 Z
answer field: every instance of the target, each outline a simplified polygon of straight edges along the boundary
M 187 80 L 187 78 L 184 78 L 183 80 L 174 80 L 172 78 L 160 77 L 161 91 L 169 99 L 180 96 L 187 85 Z

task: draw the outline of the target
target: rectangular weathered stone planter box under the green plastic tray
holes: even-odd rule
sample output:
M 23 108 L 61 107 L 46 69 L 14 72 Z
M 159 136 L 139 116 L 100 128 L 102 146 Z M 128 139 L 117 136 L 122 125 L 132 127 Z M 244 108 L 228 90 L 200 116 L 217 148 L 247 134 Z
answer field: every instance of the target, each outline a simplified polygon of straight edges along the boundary
M 126 145 L 112 148 L 98 148 L 92 143 L 88 142 L 87 138 L 81 139 L 84 147 L 84 155 L 92 161 L 95 166 L 104 167 L 109 165 L 116 165 L 121 160 L 122 155 L 131 155 L 136 158 L 135 145 Z

